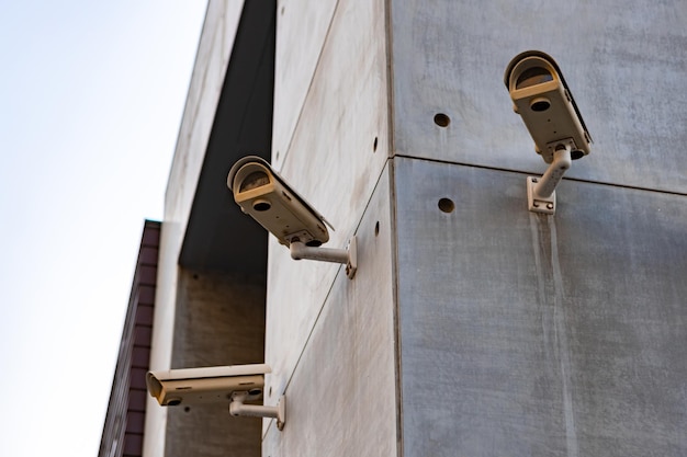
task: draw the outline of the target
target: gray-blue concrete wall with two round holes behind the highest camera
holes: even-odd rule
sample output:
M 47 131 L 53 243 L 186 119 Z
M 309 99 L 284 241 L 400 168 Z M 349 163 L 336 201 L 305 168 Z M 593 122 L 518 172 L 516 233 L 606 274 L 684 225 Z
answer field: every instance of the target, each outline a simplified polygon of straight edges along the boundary
M 684 455 L 687 9 L 390 3 L 403 455 Z M 503 83 L 530 48 L 595 139 L 553 217 Z

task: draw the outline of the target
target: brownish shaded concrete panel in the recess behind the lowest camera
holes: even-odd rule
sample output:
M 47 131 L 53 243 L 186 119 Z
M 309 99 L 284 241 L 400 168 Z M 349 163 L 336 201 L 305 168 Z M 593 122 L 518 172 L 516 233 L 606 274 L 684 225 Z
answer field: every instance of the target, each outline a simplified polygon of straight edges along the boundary
M 181 270 L 171 368 L 262 363 L 263 351 L 263 276 Z M 260 456 L 260 420 L 232 418 L 228 402 L 167 410 L 167 456 Z

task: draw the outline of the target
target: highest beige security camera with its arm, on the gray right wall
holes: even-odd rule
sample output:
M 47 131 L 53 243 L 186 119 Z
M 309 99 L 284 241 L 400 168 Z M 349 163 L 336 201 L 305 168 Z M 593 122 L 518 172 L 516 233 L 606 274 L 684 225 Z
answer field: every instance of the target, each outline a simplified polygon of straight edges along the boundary
M 514 111 L 522 117 L 534 140 L 534 149 L 550 164 L 541 179 L 528 178 L 528 207 L 553 214 L 555 187 L 572 160 L 589 153 L 592 136 L 563 73 L 548 54 L 518 54 L 508 64 L 504 82 Z

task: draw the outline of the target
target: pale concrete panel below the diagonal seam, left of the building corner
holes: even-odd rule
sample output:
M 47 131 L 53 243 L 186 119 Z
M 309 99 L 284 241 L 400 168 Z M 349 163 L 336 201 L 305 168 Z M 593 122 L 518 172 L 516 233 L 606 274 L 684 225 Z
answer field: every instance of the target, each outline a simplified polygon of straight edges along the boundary
M 360 270 L 337 276 L 288 384 L 286 425 L 269 427 L 263 456 L 397 455 L 392 233 L 385 172 L 358 228 Z

